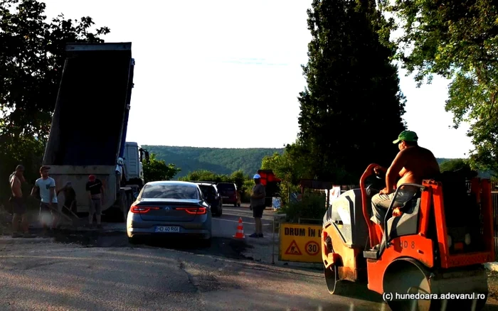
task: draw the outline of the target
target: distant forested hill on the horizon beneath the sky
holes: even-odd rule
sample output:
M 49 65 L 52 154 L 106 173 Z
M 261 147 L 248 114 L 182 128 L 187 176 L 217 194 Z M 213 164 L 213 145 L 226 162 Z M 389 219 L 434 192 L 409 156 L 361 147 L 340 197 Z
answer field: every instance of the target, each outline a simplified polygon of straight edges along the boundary
M 283 148 L 196 148 L 176 146 L 142 146 L 149 153 L 155 153 L 159 160 L 172 163 L 181 168 L 176 178 L 183 177 L 194 170 L 211 170 L 217 174 L 231 174 L 243 170 L 247 175 L 256 173 L 261 168 L 265 155 L 282 154 Z M 447 158 L 438 158 L 443 163 Z

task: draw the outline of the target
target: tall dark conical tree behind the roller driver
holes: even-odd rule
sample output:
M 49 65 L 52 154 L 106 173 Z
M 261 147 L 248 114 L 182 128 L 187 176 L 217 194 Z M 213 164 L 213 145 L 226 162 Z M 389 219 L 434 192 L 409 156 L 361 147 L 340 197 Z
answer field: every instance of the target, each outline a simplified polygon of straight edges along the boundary
M 379 41 L 386 21 L 375 0 L 314 0 L 307 13 L 299 138 L 314 177 L 356 183 L 369 163 L 391 163 L 393 138 L 405 129 L 394 51 Z

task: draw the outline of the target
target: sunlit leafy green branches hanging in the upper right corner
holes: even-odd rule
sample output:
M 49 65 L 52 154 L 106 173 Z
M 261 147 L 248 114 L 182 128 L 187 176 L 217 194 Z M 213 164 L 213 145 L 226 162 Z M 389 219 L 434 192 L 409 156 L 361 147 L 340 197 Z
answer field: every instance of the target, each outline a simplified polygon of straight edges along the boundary
M 495 1 L 382 0 L 383 11 L 397 17 L 384 29 L 401 28 L 389 42 L 398 46 L 395 56 L 418 86 L 433 75 L 451 80 L 445 110 L 454 127 L 471 124 L 473 168 L 498 171 L 498 7 Z M 386 39 L 386 38 L 385 38 Z M 430 111 L 427 111 L 430 113 Z M 448 142 L 450 143 L 450 142 Z

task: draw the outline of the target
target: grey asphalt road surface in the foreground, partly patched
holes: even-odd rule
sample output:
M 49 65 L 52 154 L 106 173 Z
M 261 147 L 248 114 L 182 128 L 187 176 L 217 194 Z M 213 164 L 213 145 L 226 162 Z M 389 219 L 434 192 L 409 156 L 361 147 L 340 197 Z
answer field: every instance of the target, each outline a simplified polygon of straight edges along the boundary
M 3 237 L 0 310 L 388 310 L 368 290 L 354 298 L 329 295 L 321 271 L 245 258 L 245 244 L 231 236 L 239 217 L 252 233 L 250 213 L 225 207 L 207 249 L 130 246 L 123 224 L 54 240 Z M 265 214 L 270 224 L 271 212 Z

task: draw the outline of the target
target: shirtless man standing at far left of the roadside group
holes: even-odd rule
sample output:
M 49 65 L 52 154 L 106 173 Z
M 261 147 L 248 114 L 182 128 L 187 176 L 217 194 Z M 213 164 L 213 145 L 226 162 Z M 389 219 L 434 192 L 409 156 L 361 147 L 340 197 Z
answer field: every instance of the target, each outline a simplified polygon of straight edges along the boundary
M 17 165 L 16 172 L 10 177 L 11 184 L 11 204 L 12 204 L 12 213 L 14 216 L 12 217 L 12 237 L 18 238 L 22 235 L 18 232 L 19 222 L 22 224 L 22 229 L 24 233 L 24 237 L 31 238 L 31 234 L 29 234 L 28 227 L 28 219 L 26 215 L 26 203 L 23 200 L 23 192 L 21 190 L 21 183 L 24 182 L 24 167 L 23 165 Z

